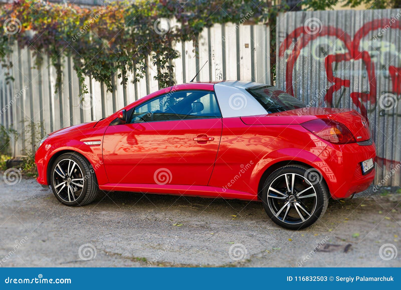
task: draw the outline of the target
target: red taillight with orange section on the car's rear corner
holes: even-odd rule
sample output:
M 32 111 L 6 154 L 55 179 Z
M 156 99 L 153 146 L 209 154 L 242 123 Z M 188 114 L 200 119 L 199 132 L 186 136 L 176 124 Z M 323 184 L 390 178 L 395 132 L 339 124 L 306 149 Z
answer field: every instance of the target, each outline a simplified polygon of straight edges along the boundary
M 316 119 L 301 124 L 316 136 L 334 144 L 346 144 L 356 142 L 348 128 L 335 120 Z

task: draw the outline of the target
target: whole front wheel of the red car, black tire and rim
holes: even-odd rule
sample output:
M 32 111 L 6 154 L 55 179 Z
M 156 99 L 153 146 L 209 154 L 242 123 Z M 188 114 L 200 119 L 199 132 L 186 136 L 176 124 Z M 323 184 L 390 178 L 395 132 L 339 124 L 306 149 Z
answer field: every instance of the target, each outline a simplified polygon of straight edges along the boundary
M 68 168 L 65 170 L 63 167 L 67 164 Z M 71 175 L 68 172 L 70 166 Z M 53 162 L 50 172 L 50 185 L 55 197 L 64 205 L 71 207 L 91 203 L 99 192 L 93 166 L 81 154 L 74 152 L 65 153 Z M 74 191 L 75 189 L 76 191 Z

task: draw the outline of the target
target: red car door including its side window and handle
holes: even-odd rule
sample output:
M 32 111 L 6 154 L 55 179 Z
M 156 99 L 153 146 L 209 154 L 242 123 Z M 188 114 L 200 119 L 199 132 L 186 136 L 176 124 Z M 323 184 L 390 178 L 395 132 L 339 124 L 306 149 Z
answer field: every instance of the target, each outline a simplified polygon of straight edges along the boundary
M 127 115 L 127 124 L 110 125 L 103 138 L 110 183 L 208 184 L 222 131 L 214 92 L 166 93 Z

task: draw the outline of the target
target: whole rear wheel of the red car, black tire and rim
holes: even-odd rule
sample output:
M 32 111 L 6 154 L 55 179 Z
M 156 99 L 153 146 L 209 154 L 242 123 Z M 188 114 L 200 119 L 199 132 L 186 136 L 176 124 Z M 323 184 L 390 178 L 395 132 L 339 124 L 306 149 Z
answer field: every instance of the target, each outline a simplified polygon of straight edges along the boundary
M 309 227 L 322 217 L 328 199 L 328 188 L 319 170 L 302 165 L 275 170 L 262 189 L 267 215 L 280 227 L 292 230 Z

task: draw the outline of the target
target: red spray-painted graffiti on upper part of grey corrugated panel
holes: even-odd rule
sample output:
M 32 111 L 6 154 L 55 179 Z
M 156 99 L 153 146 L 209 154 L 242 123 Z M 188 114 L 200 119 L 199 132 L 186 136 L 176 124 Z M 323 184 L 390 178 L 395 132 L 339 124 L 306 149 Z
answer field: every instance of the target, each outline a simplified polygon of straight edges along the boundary
M 350 35 L 342 30 L 341 28 L 336 28 L 333 26 L 323 26 L 319 33 L 316 34 L 308 34 L 305 30 L 304 26 L 296 28 L 293 32 L 291 32 L 283 43 L 280 45 L 279 49 L 279 57 L 284 57 L 284 53 L 290 48 L 291 45 L 294 45 L 292 49 L 292 53 L 287 61 L 286 67 L 286 91 L 287 93 L 294 95 L 293 90 L 293 72 L 294 65 L 300 56 L 301 50 L 308 45 L 310 41 L 317 39 L 318 37 L 336 37 L 338 40 L 342 41 L 347 50 L 346 53 L 343 54 L 334 54 L 328 55 L 324 59 L 324 65 L 326 68 L 327 80 L 330 83 L 333 83 L 331 87 L 328 88 L 326 95 L 324 96 L 324 101 L 326 103 L 331 104 L 333 99 L 333 94 L 341 89 L 341 87 L 350 87 L 350 80 L 343 79 L 340 77 L 335 77 L 333 75 L 333 63 L 340 61 L 352 61 L 352 60 L 362 60 L 366 70 L 367 77 L 369 81 L 369 92 L 351 92 L 350 98 L 352 102 L 360 109 L 360 112 L 365 118 L 367 118 L 367 110 L 364 102 L 367 103 L 370 101 L 371 103 L 376 102 L 376 75 L 375 75 L 375 65 L 371 60 L 371 56 L 368 51 L 360 51 L 360 41 L 367 36 L 371 31 L 378 29 L 387 29 L 389 28 L 389 23 L 394 22 L 391 19 L 377 19 L 371 22 L 367 22 L 363 25 L 354 35 L 354 38 L 351 39 Z M 397 21 L 391 24 L 391 28 L 401 29 L 401 22 Z M 302 36 L 302 37 L 301 37 Z M 395 92 L 400 92 L 400 69 L 395 67 L 390 67 L 389 69 L 392 81 L 393 81 L 393 89 Z M 368 119 L 368 118 L 367 118 Z

